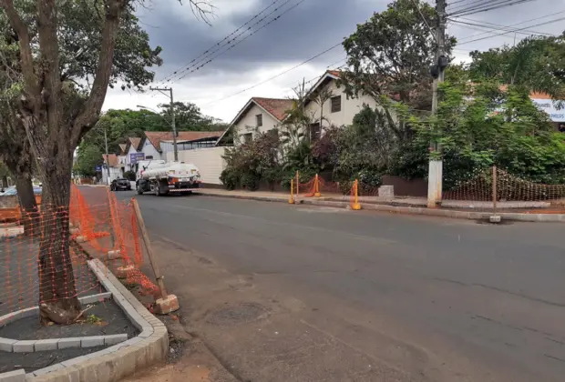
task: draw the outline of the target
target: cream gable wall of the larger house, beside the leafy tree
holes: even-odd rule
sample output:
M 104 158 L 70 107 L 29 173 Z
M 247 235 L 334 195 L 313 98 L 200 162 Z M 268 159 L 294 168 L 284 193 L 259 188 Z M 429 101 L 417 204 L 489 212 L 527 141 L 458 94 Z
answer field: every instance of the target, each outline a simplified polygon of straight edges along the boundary
M 342 96 L 342 110 L 339 112 L 332 113 L 332 101 L 328 99 L 324 103 L 324 121 L 323 126 L 347 126 L 353 124 L 354 116 L 363 109 L 363 105 L 366 104 L 372 108 L 376 107 L 375 100 L 368 95 L 361 95 L 359 98 L 347 98 L 344 94 L 344 86 L 337 87 L 336 81 L 332 80 L 324 86 L 320 86 L 320 89 L 327 88 L 331 90 L 335 95 Z M 306 106 L 306 114 L 312 117 L 313 122 L 317 122 L 320 119 L 321 107 L 315 102 L 311 101 Z

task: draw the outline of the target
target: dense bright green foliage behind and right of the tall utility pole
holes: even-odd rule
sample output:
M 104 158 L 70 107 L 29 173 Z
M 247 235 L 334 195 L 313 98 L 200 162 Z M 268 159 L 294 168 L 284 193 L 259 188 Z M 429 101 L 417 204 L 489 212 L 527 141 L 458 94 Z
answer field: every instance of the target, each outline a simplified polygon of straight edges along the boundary
M 438 142 L 447 188 L 493 165 L 534 182 L 563 181 L 564 136 L 553 130 L 549 116 L 532 103 L 521 86 L 500 91 L 496 83 L 470 86 L 447 82 L 439 91 L 437 116 L 412 118 L 415 140 L 398 156 L 393 173 L 426 174 L 426 147 L 429 142 Z

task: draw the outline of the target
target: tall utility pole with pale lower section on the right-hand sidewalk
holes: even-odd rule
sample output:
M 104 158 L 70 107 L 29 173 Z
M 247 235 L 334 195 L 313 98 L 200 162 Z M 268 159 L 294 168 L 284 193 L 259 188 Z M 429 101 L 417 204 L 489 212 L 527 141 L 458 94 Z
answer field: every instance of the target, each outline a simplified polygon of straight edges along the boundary
M 430 69 L 434 77 L 432 95 L 432 115 L 437 114 L 437 88 L 444 82 L 445 70 L 448 64 L 446 56 L 446 0 L 436 0 L 437 25 L 436 25 L 436 64 Z M 441 157 L 441 146 L 437 142 L 430 143 L 429 171 L 427 176 L 427 206 L 437 207 L 441 203 L 441 191 L 443 186 L 443 162 Z

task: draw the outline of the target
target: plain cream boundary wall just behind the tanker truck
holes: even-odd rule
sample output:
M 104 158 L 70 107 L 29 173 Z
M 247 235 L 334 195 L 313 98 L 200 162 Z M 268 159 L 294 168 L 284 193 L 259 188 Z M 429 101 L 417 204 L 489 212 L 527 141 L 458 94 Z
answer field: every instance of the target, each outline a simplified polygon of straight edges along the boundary
M 200 180 L 211 185 L 221 185 L 220 174 L 226 167 L 221 156 L 225 147 L 195 148 L 194 150 L 179 151 L 180 162 L 191 163 L 200 170 Z M 173 153 L 167 153 L 167 160 L 173 160 Z

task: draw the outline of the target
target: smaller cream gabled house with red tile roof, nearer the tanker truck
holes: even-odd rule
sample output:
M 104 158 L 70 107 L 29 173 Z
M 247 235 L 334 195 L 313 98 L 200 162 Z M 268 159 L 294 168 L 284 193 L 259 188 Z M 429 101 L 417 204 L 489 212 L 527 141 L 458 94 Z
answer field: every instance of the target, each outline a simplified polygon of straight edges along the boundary
M 230 127 L 245 142 L 257 133 L 265 133 L 278 128 L 293 107 L 292 99 L 252 97 L 231 121 Z M 225 135 L 227 133 L 224 132 Z M 221 141 L 221 138 L 219 139 Z

